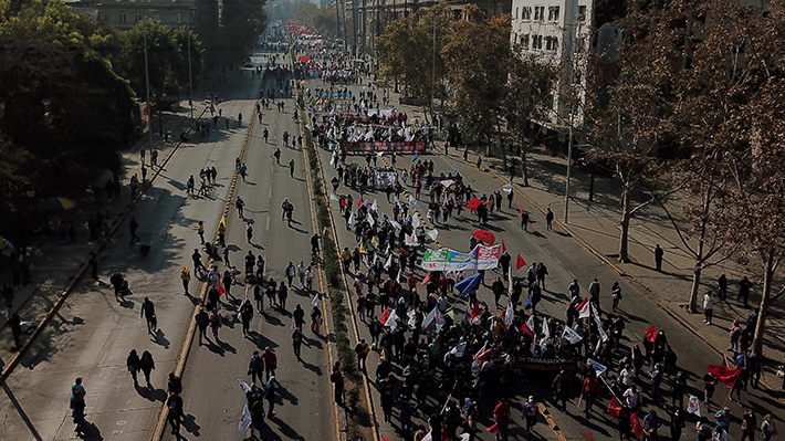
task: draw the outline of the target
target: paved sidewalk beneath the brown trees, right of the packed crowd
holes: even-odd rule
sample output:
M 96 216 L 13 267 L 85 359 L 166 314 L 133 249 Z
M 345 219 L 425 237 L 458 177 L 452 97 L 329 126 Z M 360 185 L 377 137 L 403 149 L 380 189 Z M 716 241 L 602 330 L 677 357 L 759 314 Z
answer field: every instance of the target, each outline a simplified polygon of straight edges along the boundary
M 397 94 L 390 90 L 390 103 L 399 111 L 406 112 L 409 119 L 423 119 L 422 109 L 419 107 L 398 104 Z M 441 143 L 437 143 L 437 155 L 443 155 Z M 450 149 L 449 157 L 464 166 L 474 167 L 477 151 L 470 149 L 469 160 L 462 160 L 462 150 Z M 520 157 L 516 159 L 520 160 Z M 514 188 L 517 197 L 523 196 L 535 206 L 541 213 L 532 213 L 532 219 L 540 221 L 544 218 L 545 208 L 551 209 L 556 214 L 556 223 L 567 231 L 573 238 L 589 249 L 594 254 L 603 259 L 608 266 L 629 277 L 640 287 L 642 293 L 650 295 L 657 301 L 660 307 L 683 326 L 694 333 L 698 337 L 713 347 L 716 351 L 731 356 L 726 350 L 729 347 L 728 328 L 731 323 L 741 317 L 742 321 L 752 313 L 760 304 L 762 288 L 755 266 L 749 270 L 737 262 L 729 259 L 720 265 L 704 269 L 701 274 L 701 287 L 699 293 L 699 309 L 702 294 L 711 290 L 716 293 L 716 281 L 720 274 L 725 273 L 728 277 L 729 294 L 728 302 L 721 302 L 714 306 L 714 323 L 706 326 L 702 323 L 703 314 L 688 313 L 682 306 L 689 303 L 692 286 L 692 269 L 694 261 L 689 251 L 679 239 L 666 211 L 652 203 L 641 209 L 630 221 L 629 227 L 629 255 L 630 263 L 618 262 L 619 252 L 619 217 L 620 217 L 620 191 L 618 182 L 610 176 L 595 175 L 594 201 L 588 202 L 588 190 L 590 186 L 590 174 L 586 170 L 573 167 L 571 170 L 571 198 L 568 223 L 564 224 L 564 189 L 566 180 L 567 160 L 562 157 L 554 157 L 545 148 L 533 148 L 527 156 L 528 164 L 528 187 L 522 185 L 522 178 L 516 176 Z M 483 169 L 500 182 L 506 182 L 507 174 L 503 167 L 502 159 L 485 157 L 483 155 Z M 635 204 L 634 204 L 635 207 Z M 680 219 L 683 203 L 674 199 L 668 203 L 668 211 L 677 218 L 680 227 L 687 229 L 687 221 Z M 544 220 L 543 220 L 544 221 Z M 655 271 L 653 249 L 657 244 L 664 250 L 662 272 Z M 694 241 L 691 244 L 694 245 Z M 752 271 L 750 271 L 752 270 Z M 749 307 L 744 307 L 735 302 L 739 281 L 747 275 L 753 283 L 750 293 Z M 628 297 L 629 298 L 629 297 Z M 785 355 L 785 306 L 782 302 L 775 303 L 766 321 L 765 377 L 763 382 L 770 389 L 774 389 L 778 399 L 785 403 L 783 393 L 778 392 L 782 380 L 775 377 L 776 366 L 783 364 Z

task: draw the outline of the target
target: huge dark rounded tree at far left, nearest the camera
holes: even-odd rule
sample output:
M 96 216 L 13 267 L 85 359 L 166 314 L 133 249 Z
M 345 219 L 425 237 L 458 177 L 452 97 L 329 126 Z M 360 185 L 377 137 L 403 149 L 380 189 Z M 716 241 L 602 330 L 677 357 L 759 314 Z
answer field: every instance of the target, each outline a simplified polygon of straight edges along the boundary
M 0 151 L 3 177 L 38 188 L 116 168 L 135 135 L 133 92 L 91 49 L 59 1 L 0 3 Z

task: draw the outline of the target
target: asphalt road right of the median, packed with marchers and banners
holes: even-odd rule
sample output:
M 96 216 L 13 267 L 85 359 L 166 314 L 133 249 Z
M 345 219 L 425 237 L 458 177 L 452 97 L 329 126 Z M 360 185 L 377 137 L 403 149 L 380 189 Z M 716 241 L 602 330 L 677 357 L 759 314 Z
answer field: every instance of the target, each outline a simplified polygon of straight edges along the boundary
M 325 88 L 329 87 L 328 85 L 325 85 L 320 81 L 312 81 L 310 83 L 310 86 L 312 87 L 312 90 L 317 86 L 322 86 Z M 365 85 L 349 86 L 349 88 L 354 92 L 355 95 L 357 95 L 359 91 L 367 91 L 367 86 Z M 380 97 L 380 90 L 377 90 L 376 92 Z M 391 102 L 394 101 L 397 102 L 397 99 L 391 99 Z M 408 112 L 408 109 L 404 108 L 402 112 Z M 441 145 L 441 143 L 438 144 Z M 505 181 L 488 172 L 485 167 L 483 167 L 483 170 L 479 170 L 474 166 L 477 154 L 474 154 L 473 151 L 470 153 L 469 162 L 464 162 L 462 160 L 462 150 L 458 151 L 456 149 L 451 149 L 450 155 L 446 156 L 443 149 L 439 148 L 435 153 L 420 155 L 419 158 L 421 160 L 433 160 L 435 175 L 439 175 L 440 172 L 447 174 L 449 171 L 454 170 L 457 167 L 460 167 L 459 171 L 463 176 L 464 182 L 471 185 L 471 187 L 477 191 L 478 197 L 483 193 L 490 196 L 495 190 L 502 191 L 502 186 L 506 183 Z M 327 165 L 331 158 L 329 153 L 321 150 L 321 157 L 326 170 L 325 179 L 329 180 L 333 176 L 335 176 L 335 172 Z M 379 167 L 390 166 L 388 159 L 389 156 L 385 155 L 383 158 L 379 158 L 377 165 Z M 362 166 L 366 165 L 364 156 L 349 156 L 347 158 L 347 162 L 358 162 Z M 399 171 L 402 168 L 409 168 L 410 165 L 411 155 L 398 155 L 397 167 Z M 520 178 L 517 179 L 520 180 Z M 409 183 L 411 183 L 411 180 L 409 181 Z M 412 187 L 406 187 L 406 190 L 409 193 L 414 195 Z M 537 211 L 535 207 L 531 206 L 527 201 L 525 201 L 522 198 L 522 192 L 519 191 L 523 191 L 525 193 L 525 189 L 516 189 L 515 198 L 512 202 L 512 209 L 507 208 L 506 195 L 502 192 L 502 195 L 505 197 L 502 204 L 503 209 L 501 212 L 492 213 L 490 216 L 489 224 L 486 225 L 480 225 L 477 220 L 477 217 L 473 217 L 467 210 L 463 211 L 461 217 L 453 217 L 446 224 L 430 224 L 428 221 L 425 220 L 428 196 L 427 192 L 423 191 L 417 204 L 418 210 L 422 217 L 422 223 L 427 224 L 428 229 L 436 228 L 439 231 L 437 238 L 438 243 L 432 243 L 429 241 L 428 246 L 447 246 L 461 252 L 467 252 L 467 250 L 469 249 L 469 240 L 472 233 L 474 233 L 474 231 L 477 231 L 479 228 L 492 231 L 496 237 L 498 243 L 502 240 L 504 241 L 510 254 L 512 255 L 513 269 L 517 254 L 521 254 L 527 265 L 535 262 L 545 263 L 550 272 L 550 275 L 546 279 L 547 290 L 544 290 L 543 292 L 543 300 L 537 306 L 537 312 L 540 314 L 553 316 L 562 322 L 565 319 L 565 308 L 568 302 L 568 296 L 566 294 L 567 286 L 573 282 L 573 280 L 578 281 L 578 283 L 580 284 L 582 295 L 586 296 L 588 294 L 589 283 L 595 277 L 597 277 L 601 284 L 600 298 L 603 311 L 605 312 L 610 311 L 611 306 L 610 287 L 614 282 L 619 282 L 621 291 L 624 293 L 624 300 L 620 304 L 620 315 L 625 318 L 627 328 L 622 338 L 622 348 L 616 353 L 615 360 L 618 360 L 621 356 L 628 356 L 632 345 L 641 344 L 645 328 L 652 325 L 657 325 L 658 329 L 666 330 L 669 337 L 669 343 L 672 345 L 673 349 L 679 356 L 677 365 L 680 370 L 684 371 L 688 378 L 688 393 L 693 393 L 702 397 L 701 377 L 706 372 L 706 365 L 719 364 L 722 360 L 721 356 L 718 355 L 708 345 L 703 344 L 695 335 L 693 335 L 691 332 L 682 327 L 678 322 L 672 319 L 662 309 L 660 309 L 657 306 L 655 300 L 652 300 L 647 293 L 639 291 L 637 286 L 630 285 L 627 279 L 620 277 L 616 272 L 614 272 L 603 261 L 600 261 L 580 243 L 575 241 L 572 237 L 559 230 L 557 227 L 554 227 L 554 229 L 551 231 L 546 231 L 544 214 L 542 214 L 540 211 Z M 354 189 L 347 189 L 343 185 L 341 186 L 338 193 L 352 193 L 355 201 L 359 200 L 359 193 L 357 191 L 355 191 Z M 379 206 L 379 211 L 381 213 L 391 216 L 391 204 L 387 202 L 384 191 L 366 191 L 365 198 L 368 199 L 370 202 L 376 200 Z M 402 196 L 401 201 L 408 201 L 408 195 Z M 522 231 L 520 227 L 519 210 L 521 208 L 532 213 L 532 223 L 528 225 L 528 232 Z M 336 224 L 338 227 L 338 242 L 341 248 L 343 249 L 344 246 L 348 246 L 350 250 L 354 249 L 356 246 L 354 233 L 348 232 L 344 229 L 344 222 L 339 217 L 337 203 L 331 203 L 331 211 L 333 212 L 333 216 L 336 219 Z M 562 217 L 559 212 L 557 212 L 556 216 L 557 218 Z M 418 271 L 417 274 L 420 280 L 422 280 L 422 277 L 426 275 L 426 273 L 421 270 Z M 521 270 L 513 270 L 513 274 L 516 277 L 525 279 L 526 267 L 522 267 Z M 408 275 L 409 272 L 405 274 L 405 276 Z M 494 307 L 493 296 L 490 291 L 490 283 L 493 281 L 494 276 L 495 274 L 493 273 L 486 275 L 485 279 L 489 285 L 482 286 L 478 294 L 481 303 L 489 306 L 491 312 L 501 313 L 501 308 L 496 309 Z M 422 287 L 418 287 L 418 291 L 421 290 Z M 350 297 L 354 300 L 354 295 L 352 295 Z M 465 301 L 460 297 L 451 297 L 451 300 L 453 301 L 454 306 L 459 309 L 457 317 L 462 317 L 463 309 L 467 306 Z M 506 305 L 506 298 L 503 297 L 500 303 L 503 304 L 503 308 Z M 360 335 L 366 339 L 369 338 L 367 326 L 363 324 L 359 325 Z M 368 357 L 368 371 L 371 380 L 375 379 L 373 374 L 373 366 L 375 366 L 377 363 L 378 354 L 371 353 Z M 643 367 L 645 371 L 648 371 L 650 369 L 651 367 L 648 365 Z M 610 375 L 617 374 L 618 371 L 613 371 Z M 579 393 L 579 388 L 577 387 L 577 385 L 574 390 L 573 400 L 567 403 L 566 412 L 558 411 L 552 406 L 550 398 L 550 386 L 552 379 L 553 375 L 528 372 L 528 376 L 524 381 L 515 384 L 514 392 L 516 395 L 516 399 L 515 402 L 512 403 L 512 406 L 514 409 L 517 409 L 513 411 L 513 417 L 516 421 L 516 424 L 513 424 L 511 427 L 511 433 L 515 434 L 519 439 L 523 439 L 523 437 L 525 437 L 525 431 L 521 426 L 517 424 L 522 424 L 523 422 L 520 418 L 520 411 L 522 409 L 523 399 L 530 395 L 533 395 L 537 399 L 537 401 L 545 403 L 546 408 L 550 410 L 553 417 L 553 421 L 559 428 L 558 431 L 554 432 L 545 424 L 538 426 L 536 432 L 538 433 L 538 438 L 541 439 L 574 439 L 592 441 L 595 439 L 616 439 L 616 437 L 618 437 L 618 432 L 616 430 L 616 419 L 611 418 L 610 414 L 605 411 L 608 405 L 607 391 L 604 392 L 604 399 L 598 401 L 593 418 L 587 419 L 583 416 L 583 407 L 580 410 L 578 410 L 577 408 Z M 650 399 L 648 399 L 650 381 L 648 380 L 648 376 L 646 372 L 639 374 L 639 379 L 637 384 L 639 385 L 639 388 L 643 391 L 643 395 L 647 396 L 647 401 L 643 407 L 645 411 L 648 412 L 649 410 L 657 410 L 663 423 L 667 423 L 669 421 L 668 411 L 670 411 L 671 408 L 668 407 L 668 409 L 666 410 L 662 406 L 657 407 L 652 403 Z M 668 379 L 666 379 L 662 384 L 662 395 L 664 397 L 669 397 L 669 390 L 670 382 Z M 713 411 L 716 411 L 718 402 L 721 405 L 724 401 L 728 391 L 729 390 L 726 387 L 722 385 L 718 386 L 714 396 Z M 760 416 L 765 414 L 767 412 L 777 412 L 777 405 L 773 400 L 771 400 L 771 398 L 767 398 L 765 395 L 760 396 L 755 393 L 752 388 L 750 388 L 750 391 L 751 393 L 749 395 L 743 393 L 743 403 L 744 406 L 752 406 L 755 409 L 756 413 L 758 414 L 758 424 L 762 419 L 762 417 Z M 493 424 L 492 405 L 495 403 L 494 395 L 498 392 L 499 390 L 496 389 L 489 389 L 488 393 L 484 397 L 485 399 L 482 400 L 482 402 L 484 402 L 484 406 L 480 407 L 479 420 L 480 427 L 482 429 Z M 376 406 L 378 406 L 378 393 L 374 390 L 371 396 Z M 667 402 L 668 405 L 670 405 L 669 398 L 667 399 Z M 660 403 L 662 403 L 662 401 L 660 401 Z M 435 397 L 431 397 L 429 399 L 428 412 L 431 412 L 435 409 L 441 409 L 442 405 L 443 402 L 437 402 L 435 400 Z M 735 416 L 741 417 L 743 414 L 744 409 L 740 407 L 739 403 L 729 401 L 728 406 L 731 408 L 732 412 Z M 703 414 L 708 413 L 705 408 L 703 407 L 701 411 Z M 380 409 L 377 409 L 376 414 L 380 414 Z M 421 413 L 419 416 L 421 417 Z M 387 438 L 390 439 L 394 439 L 393 437 L 399 438 L 399 435 L 397 435 L 395 432 L 395 428 L 398 427 L 398 421 L 396 418 L 394 418 L 391 426 L 381 422 L 379 417 L 377 417 L 377 420 L 381 433 L 384 433 Z M 684 429 L 685 437 L 692 437 L 693 432 L 691 427 L 694 427 L 695 421 L 697 418 L 694 416 L 689 416 L 688 428 Z M 425 420 L 422 419 L 419 419 L 418 422 L 425 424 Z M 731 434 L 735 437 L 739 434 L 739 426 L 734 424 L 734 429 L 735 430 L 732 429 Z M 659 433 L 661 437 L 668 437 L 668 428 L 663 427 L 662 429 L 660 429 Z M 483 440 L 490 440 L 493 439 L 493 435 L 483 430 L 478 438 Z

